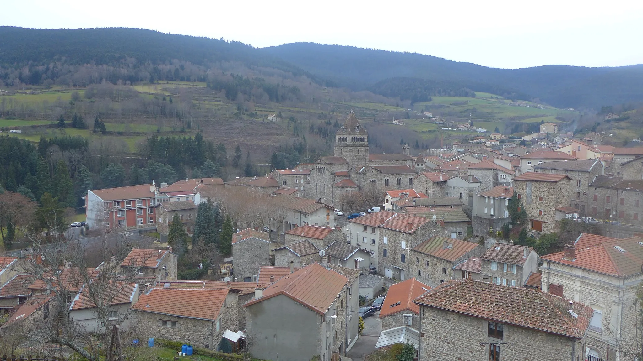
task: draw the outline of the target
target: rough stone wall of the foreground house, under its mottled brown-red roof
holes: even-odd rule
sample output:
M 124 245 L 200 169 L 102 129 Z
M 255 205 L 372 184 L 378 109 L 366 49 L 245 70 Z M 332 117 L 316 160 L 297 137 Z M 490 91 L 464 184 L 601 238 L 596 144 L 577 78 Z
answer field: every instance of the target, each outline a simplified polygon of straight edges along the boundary
M 498 340 L 487 337 L 487 321 L 436 308 L 422 306 L 421 323 L 420 361 L 489 360 L 489 344 L 497 342 L 502 342 L 500 360 L 525 360 L 543 352 L 552 361 L 576 361 L 584 356 L 582 340 L 509 324 Z

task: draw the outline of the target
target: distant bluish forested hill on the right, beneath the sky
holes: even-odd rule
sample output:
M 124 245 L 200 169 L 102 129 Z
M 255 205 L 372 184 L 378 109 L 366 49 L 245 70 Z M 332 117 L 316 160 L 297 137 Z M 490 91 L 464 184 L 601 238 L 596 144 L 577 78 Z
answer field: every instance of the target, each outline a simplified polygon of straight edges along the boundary
M 495 69 L 417 53 L 293 43 L 262 49 L 310 73 L 354 90 L 388 95 L 417 88 L 418 78 L 455 82 L 475 91 L 540 98 L 556 107 L 593 107 L 643 100 L 643 64 L 624 67 L 540 66 Z M 383 87 L 392 78 L 392 86 Z M 415 78 L 415 80 L 413 80 Z M 373 87 L 374 84 L 379 84 Z M 424 86 L 424 85 L 423 85 Z M 432 86 L 432 85 L 431 85 Z M 513 94 L 513 95 L 511 95 Z

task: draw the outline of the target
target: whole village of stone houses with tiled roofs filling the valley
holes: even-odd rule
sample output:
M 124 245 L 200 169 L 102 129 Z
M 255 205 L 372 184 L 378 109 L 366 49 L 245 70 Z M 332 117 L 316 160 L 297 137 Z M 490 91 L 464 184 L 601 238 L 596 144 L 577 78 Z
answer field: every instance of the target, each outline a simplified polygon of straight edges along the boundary
M 90 189 L 85 222 L 0 258 L 0 337 L 57 317 L 75 333 L 55 328 L 51 349 L 77 352 L 86 335 L 120 333 L 125 346 L 275 361 L 397 344 L 422 361 L 637 360 L 643 147 L 556 123 L 473 130 L 468 143 L 371 154 L 351 111 L 314 163 Z M 229 250 L 216 229 L 219 253 L 186 279 L 181 259 L 207 252 L 214 208 Z M 90 267 L 70 247 L 92 242 L 119 251 Z

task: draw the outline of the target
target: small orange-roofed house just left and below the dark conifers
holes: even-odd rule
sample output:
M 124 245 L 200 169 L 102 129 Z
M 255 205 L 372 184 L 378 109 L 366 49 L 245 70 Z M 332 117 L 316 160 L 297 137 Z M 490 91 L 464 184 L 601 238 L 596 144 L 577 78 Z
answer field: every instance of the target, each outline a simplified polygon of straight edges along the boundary
M 156 277 L 157 281 L 176 281 L 176 253 L 168 249 L 134 248 L 120 263 L 123 273 Z

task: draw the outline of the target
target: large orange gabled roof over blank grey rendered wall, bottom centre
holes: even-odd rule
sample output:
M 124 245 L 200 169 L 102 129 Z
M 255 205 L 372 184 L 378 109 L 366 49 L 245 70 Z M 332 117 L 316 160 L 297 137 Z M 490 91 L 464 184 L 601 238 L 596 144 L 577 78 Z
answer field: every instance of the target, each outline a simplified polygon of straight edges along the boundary
M 348 282 L 348 277 L 315 262 L 282 277 L 264 290 L 263 297 L 249 300 L 244 307 L 276 295 L 285 295 L 323 315 L 331 308 Z

